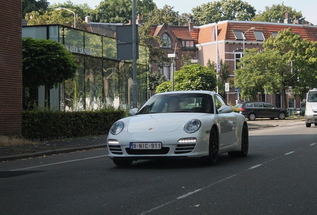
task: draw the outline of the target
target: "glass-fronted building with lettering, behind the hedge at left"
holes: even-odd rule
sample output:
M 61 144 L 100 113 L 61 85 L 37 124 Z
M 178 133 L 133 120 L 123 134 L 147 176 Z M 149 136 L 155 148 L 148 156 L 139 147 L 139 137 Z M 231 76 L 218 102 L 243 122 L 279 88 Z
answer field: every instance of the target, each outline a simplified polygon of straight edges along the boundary
M 131 108 L 132 61 L 117 60 L 117 42 L 110 38 L 64 25 L 23 26 L 22 37 L 51 39 L 73 53 L 79 66 L 73 79 L 50 90 L 50 109 L 95 110 L 112 106 Z M 149 49 L 139 46 L 137 104 L 148 99 Z M 44 87 L 38 89 L 38 106 L 44 107 Z

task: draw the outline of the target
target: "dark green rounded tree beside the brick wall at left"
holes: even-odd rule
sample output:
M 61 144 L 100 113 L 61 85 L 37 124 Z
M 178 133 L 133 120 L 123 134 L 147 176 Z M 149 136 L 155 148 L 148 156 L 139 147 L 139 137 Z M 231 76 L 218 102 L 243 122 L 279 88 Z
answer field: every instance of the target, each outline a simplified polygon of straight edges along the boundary
M 74 77 L 77 65 L 73 55 L 53 40 L 22 40 L 22 83 L 24 88 L 45 86 L 48 90 Z

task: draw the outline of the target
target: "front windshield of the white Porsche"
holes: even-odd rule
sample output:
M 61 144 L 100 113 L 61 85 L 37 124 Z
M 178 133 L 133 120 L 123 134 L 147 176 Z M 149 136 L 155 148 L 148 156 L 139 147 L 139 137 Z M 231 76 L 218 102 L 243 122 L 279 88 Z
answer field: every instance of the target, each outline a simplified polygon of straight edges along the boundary
M 213 113 L 213 102 L 208 94 L 165 94 L 151 97 L 137 114 L 162 112 Z

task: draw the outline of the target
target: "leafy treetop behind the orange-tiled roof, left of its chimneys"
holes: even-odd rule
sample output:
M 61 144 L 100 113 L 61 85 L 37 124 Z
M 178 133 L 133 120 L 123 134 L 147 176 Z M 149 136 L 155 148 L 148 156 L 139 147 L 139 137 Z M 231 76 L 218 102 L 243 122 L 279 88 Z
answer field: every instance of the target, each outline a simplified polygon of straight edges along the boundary
M 223 20 L 251 20 L 256 9 L 242 0 L 220 0 L 192 8 L 193 22 L 203 25 Z

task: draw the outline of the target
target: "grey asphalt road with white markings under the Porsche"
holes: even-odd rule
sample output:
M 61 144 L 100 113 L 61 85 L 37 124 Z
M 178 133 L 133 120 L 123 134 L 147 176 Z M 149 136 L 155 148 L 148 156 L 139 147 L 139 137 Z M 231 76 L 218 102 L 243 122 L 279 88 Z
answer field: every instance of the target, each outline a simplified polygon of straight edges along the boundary
M 0 163 L 0 215 L 316 215 L 317 127 L 250 130 L 246 158 L 138 161 L 106 149 Z

